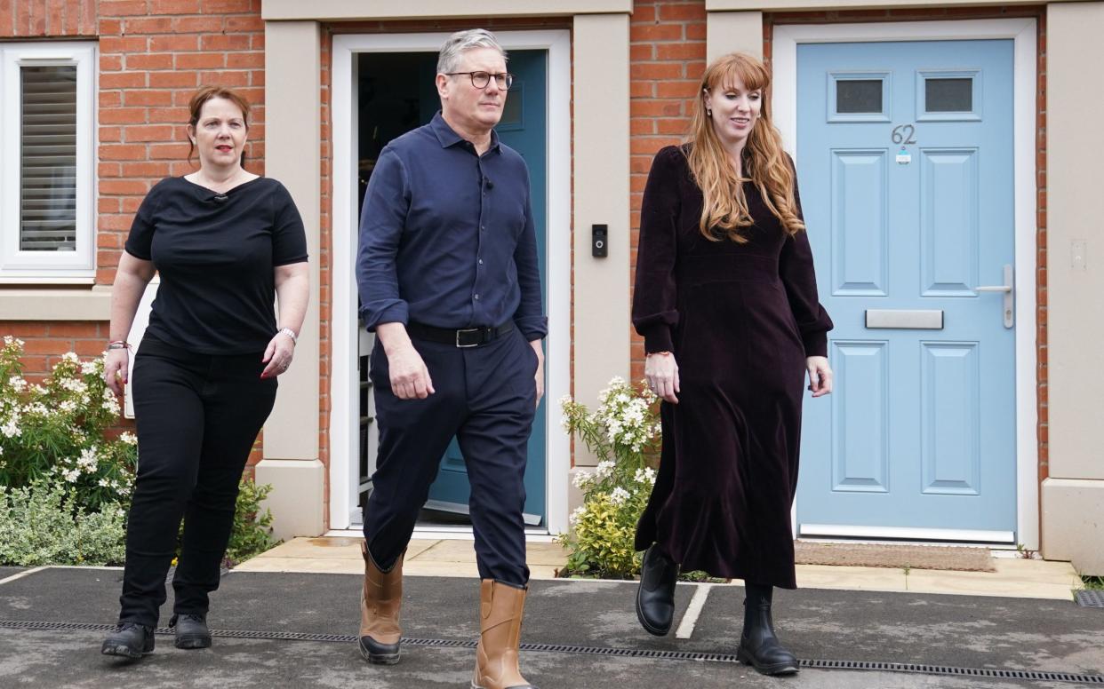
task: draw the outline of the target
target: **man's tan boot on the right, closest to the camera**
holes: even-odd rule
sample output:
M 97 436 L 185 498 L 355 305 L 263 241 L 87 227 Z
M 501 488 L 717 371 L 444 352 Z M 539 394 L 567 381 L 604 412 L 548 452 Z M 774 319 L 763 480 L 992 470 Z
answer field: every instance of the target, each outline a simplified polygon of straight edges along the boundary
M 479 586 L 479 646 L 471 689 L 537 689 L 518 669 L 526 586 L 484 579 Z

